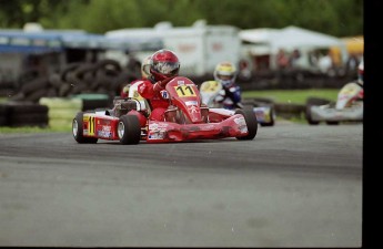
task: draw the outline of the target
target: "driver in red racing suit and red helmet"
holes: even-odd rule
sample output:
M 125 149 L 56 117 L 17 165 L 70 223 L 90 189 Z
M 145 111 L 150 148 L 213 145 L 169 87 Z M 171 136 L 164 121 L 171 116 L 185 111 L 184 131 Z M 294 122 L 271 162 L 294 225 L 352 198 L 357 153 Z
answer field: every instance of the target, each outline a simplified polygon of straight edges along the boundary
M 178 75 L 180 61 L 170 50 L 159 50 L 151 55 L 149 76 L 138 85 L 139 94 L 151 105 L 149 120 L 163 121 L 169 106 L 169 94 L 164 90 L 167 83 Z

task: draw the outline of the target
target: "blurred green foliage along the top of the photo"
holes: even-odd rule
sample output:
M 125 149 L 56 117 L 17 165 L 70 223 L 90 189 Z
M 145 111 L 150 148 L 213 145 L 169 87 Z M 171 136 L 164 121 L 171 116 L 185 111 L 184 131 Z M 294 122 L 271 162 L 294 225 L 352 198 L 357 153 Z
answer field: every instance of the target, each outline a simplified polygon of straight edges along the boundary
M 363 34 L 363 0 L 0 0 L 0 25 L 20 29 L 40 22 L 46 29 L 104 33 L 170 21 L 240 29 L 298 25 L 335 37 Z

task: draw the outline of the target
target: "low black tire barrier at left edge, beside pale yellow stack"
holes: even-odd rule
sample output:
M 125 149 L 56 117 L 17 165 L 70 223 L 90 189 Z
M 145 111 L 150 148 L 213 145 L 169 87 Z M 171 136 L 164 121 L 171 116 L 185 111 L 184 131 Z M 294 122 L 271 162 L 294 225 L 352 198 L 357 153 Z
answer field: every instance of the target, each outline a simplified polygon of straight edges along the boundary
M 0 126 L 48 126 L 48 106 L 31 102 L 9 102 L 0 105 Z

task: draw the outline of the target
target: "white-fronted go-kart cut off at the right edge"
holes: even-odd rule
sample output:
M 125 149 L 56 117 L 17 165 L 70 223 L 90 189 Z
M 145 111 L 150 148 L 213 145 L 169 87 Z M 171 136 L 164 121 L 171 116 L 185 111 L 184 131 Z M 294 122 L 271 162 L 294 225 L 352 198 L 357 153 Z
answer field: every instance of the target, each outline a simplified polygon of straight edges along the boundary
M 305 118 L 310 125 L 325 122 L 337 125 L 340 122 L 363 121 L 363 87 L 355 82 L 345 84 L 337 94 L 336 102 L 309 97 Z

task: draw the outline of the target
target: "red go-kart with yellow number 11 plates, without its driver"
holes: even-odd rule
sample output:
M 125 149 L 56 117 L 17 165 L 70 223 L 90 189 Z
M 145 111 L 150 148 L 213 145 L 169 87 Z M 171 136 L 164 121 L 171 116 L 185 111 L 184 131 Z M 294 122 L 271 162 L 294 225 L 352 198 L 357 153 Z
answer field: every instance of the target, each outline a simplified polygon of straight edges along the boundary
M 196 85 L 183 76 L 165 85 L 170 105 L 164 121 L 149 120 L 151 108 L 138 93 L 138 84 L 129 87 L 127 98 L 114 100 L 113 110 L 79 112 L 72 122 L 74 139 L 80 144 L 98 139 L 139 144 L 140 141 L 165 143 L 225 137 L 250 141 L 256 135 L 258 120 L 252 110 L 209 108 L 201 102 Z M 140 123 L 137 113 L 147 116 L 145 125 Z

